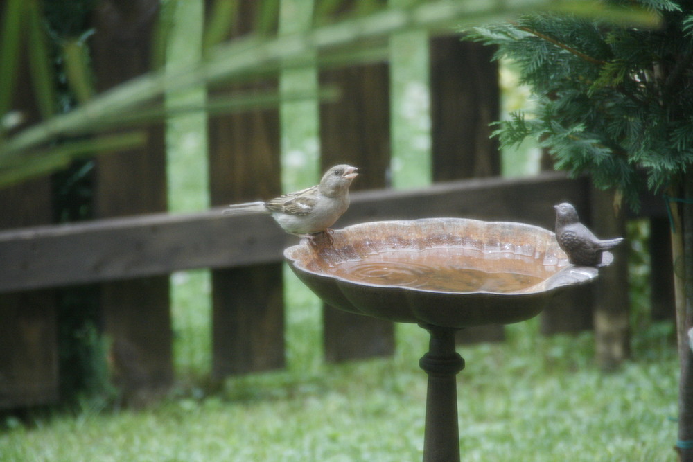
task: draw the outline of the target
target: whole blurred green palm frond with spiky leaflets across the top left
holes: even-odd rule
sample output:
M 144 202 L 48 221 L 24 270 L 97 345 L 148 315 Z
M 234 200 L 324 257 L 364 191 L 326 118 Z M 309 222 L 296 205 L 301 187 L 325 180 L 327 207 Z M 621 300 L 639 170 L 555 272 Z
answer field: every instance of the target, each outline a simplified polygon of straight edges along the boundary
M 87 0 L 85 0 L 87 1 Z M 259 0 L 258 0 L 259 1 Z M 87 1 L 87 3 L 89 3 Z M 69 61 L 69 84 L 76 94 L 81 95 L 80 105 L 69 112 L 53 115 L 55 105 L 53 82 L 49 75 L 50 66 L 42 66 L 45 51 L 45 34 L 40 28 L 22 28 L 22 21 L 35 25 L 41 23 L 40 0 L 8 0 L 4 22 L 0 30 L 0 116 L 10 114 L 10 95 L 15 88 L 15 71 L 20 53 L 26 46 L 32 53 L 35 71 L 36 96 L 44 111 L 44 121 L 9 135 L 0 126 L 0 187 L 22 181 L 29 177 L 45 174 L 66 166 L 72 159 L 94 151 L 123 149 L 143 142 L 137 127 L 144 121 L 141 117 L 131 118 L 128 114 L 141 112 L 168 91 L 199 87 L 220 81 L 249 80 L 259 74 L 280 73 L 283 69 L 317 65 L 320 67 L 349 63 L 385 60 L 387 38 L 407 30 L 439 30 L 455 24 L 483 24 L 486 21 L 514 17 L 529 10 L 579 10 L 581 14 L 601 14 L 615 20 L 651 21 L 650 15 L 642 11 L 614 10 L 601 3 L 588 0 L 514 0 L 512 2 L 477 0 L 416 0 L 406 2 L 401 8 L 381 8 L 381 3 L 371 0 L 350 1 L 353 15 L 334 21 L 334 12 L 342 7 L 340 0 L 325 0 L 316 4 L 312 26 L 308 30 L 281 36 L 270 33 L 267 24 L 277 16 L 277 1 L 262 0 L 256 17 L 256 35 L 242 37 L 229 42 L 220 42 L 225 37 L 236 14 L 237 1 L 218 0 L 213 3 L 211 20 L 207 27 L 204 44 L 207 46 L 204 61 L 194 66 L 181 67 L 175 73 L 155 69 L 130 82 L 125 82 L 105 94 L 93 94 L 89 79 L 85 77 L 83 53 L 80 48 L 66 46 L 64 59 Z M 166 2 L 164 2 L 166 5 Z M 377 6 L 378 8 L 375 8 Z M 164 19 L 153 42 L 155 59 L 157 50 L 166 40 L 166 10 Z M 32 33 L 27 33 L 29 30 Z M 98 32 L 97 32 L 98 33 Z M 373 46 L 379 43 L 380 46 Z M 329 51 L 329 53 L 325 53 Z M 317 61 L 310 58 L 315 53 Z M 271 96 L 271 95 L 270 95 Z M 243 96 L 241 96 L 243 98 Z M 270 98 L 271 99 L 271 98 Z M 267 96 L 265 96 L 265 102 Z M 274 100 L 280 100 L 275 95 Z M 217 102 L 217 106 L 218 106 Z M 247 108 L 259 102 L 229 100 L 224 102 L 229 112 Z M 159 110 L 157 110 L 159 109 Z M 199 107 L 191 108 L 199 110 Z M 210 108 L 219 110 L 218 107 Z M 146 114 L 147 120 L 161 119 L 166 110 L 155 108 Z M 11 118 L 3 118 L 10 121 Z M 53 149 L 51 142 L 60 137 L 74 134 L 93 134 L 114 126 L 126 127 L 133 132 L 112 139 L 99 139 L 89 145 L 63 143 L 60 150 Z M 6 127 L 7 128 L 7 127 Z M 105 145 L 107 141 L 112 146 Z

